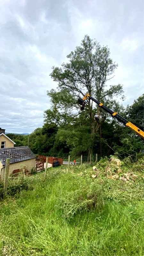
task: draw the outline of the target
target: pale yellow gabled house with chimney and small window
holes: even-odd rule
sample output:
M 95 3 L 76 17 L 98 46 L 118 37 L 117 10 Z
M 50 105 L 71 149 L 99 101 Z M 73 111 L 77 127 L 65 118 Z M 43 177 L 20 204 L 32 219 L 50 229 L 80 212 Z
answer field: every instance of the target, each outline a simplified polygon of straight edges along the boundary
M 13 148 L 15 142 L 5 135 L 5 129 L 0 128 L 0 148 Z

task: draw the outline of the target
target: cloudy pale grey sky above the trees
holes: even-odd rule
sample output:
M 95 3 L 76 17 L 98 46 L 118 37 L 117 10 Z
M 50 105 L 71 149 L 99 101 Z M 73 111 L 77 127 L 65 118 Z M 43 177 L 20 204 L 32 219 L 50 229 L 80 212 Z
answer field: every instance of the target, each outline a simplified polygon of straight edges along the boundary
M 33 132 L 51 107 L 52 66 L 84 35 L 108 45 L 126 107 L 144 93 L 143 0 L 0 0 L 0 127 Z

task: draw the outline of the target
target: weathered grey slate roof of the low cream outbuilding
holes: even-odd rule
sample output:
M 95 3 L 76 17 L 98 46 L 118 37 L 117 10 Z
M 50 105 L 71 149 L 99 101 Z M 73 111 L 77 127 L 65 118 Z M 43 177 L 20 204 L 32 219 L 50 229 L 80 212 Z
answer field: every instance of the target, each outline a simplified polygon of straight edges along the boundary
M 36 158 L 36 156 L 33 154 L 30 148 L 28 148 L 28 146 L 1 148 L 0 161 L 3 165 L 5 165 L 6 158 L 10 158 L 10 164 L 13 164 L 20 161 Z

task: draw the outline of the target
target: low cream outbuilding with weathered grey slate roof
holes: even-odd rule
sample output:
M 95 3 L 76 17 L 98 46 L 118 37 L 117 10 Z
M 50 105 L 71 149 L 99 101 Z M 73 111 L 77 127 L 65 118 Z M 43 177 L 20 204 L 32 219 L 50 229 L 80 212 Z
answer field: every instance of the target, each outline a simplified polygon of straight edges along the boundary
M 6 158 L 10 158 L 9 176 L 14 172 L 19 172 L 20 164 L 26 165 L 26 170 L 31 172 L 35 170 L 36 156 L 28 148 L 24 147 L 9 147 L 0 149 L 0 178 L 4 179 Z

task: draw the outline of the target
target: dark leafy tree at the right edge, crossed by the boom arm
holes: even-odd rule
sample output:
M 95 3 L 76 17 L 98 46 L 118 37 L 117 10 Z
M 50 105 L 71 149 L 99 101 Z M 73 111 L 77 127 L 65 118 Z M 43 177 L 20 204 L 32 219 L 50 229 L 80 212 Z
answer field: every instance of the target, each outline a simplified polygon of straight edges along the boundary
M 127 106 L 124 116 L 134 125 L 143 131 L 143 113 L 144 113 L 144 94 L 140 96 L 131 106 Z M 127 116 L 126 116 L 127 115 Z M 116 154 L 122 157 L 130 156 L 137 159 L 143 153 L 143 140 L 135 132 L 118 124 L 114 126 L 112 148 Z

